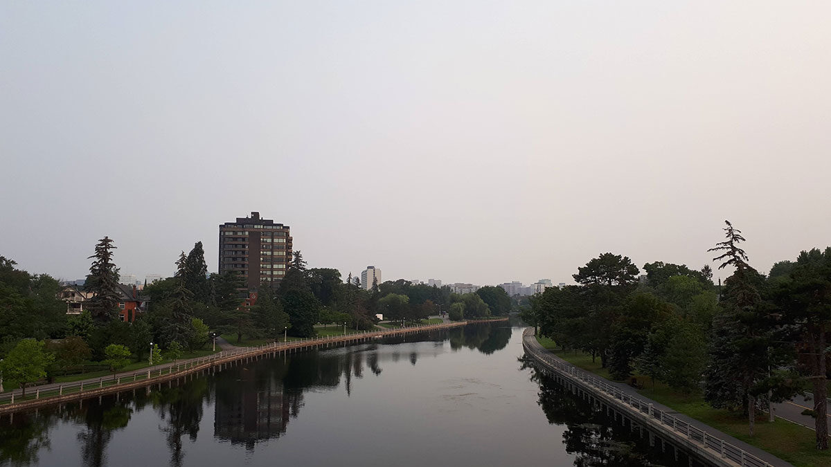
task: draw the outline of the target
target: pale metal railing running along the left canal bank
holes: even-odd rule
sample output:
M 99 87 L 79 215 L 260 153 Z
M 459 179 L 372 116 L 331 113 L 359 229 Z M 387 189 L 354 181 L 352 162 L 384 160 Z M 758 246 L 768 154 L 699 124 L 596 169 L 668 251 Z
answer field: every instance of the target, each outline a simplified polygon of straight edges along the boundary
M 455 326 L 462 326 L 472 322 L 476 321 L 468 320 L 464 322 L 454 322 L 453 324 Z M 122 383 L 128 383 L 133 381 L 146 380 L 150 381 L 150 384 L 153 384 L 152 381 L 160 376 L 166 376 L 183 371 L 189 371 L 190 369 L 196 366 L 201 366 L 205 363 L 209 363 L 212 361 L 225 360 L 230 356 L 243 358 L 244 356 L 248 355 L 261 355 L 263 353 L 268 353 L 268 351 L 282 351 L 293 348 L 303 348 L 312 345 L 324 344 L 327 342 L 348 342 L 359 339 L 361 337 L 395 336 L 396 334 L 402 333 L 402 331 L 411 332 L 413 330 L 425 330 L 425 328 L 443 329 L 446 327 L 449 327 L 447 326 L 447 323 L 418 324 L 410 327 L 392 328 L 385 331 L 381 331 L 381 329 L 375 329 L 372 331 L 352 332 L 349 334 L 341 334 L 337 336 L 303 337 L 301 339 L 288 342 L 271 342 L 257 347 L 238 347 L 232 350 L 219 351 L 209 356 L 200 356 L 197 358 L 184 360 L 179 363 L 165 364 L 162 366 L 150 366 L 143 370 L 128 371 L 125 373 L 118 373 L 112 376 L 101 376 L 96 381 L 75 381 L 62 384 L 59 383 L 57 385 L 53 383 L 41 386 L 30 386 L 27 387 L 27 395 L 25 398 L 20 395 L 16 396 L 14 391 L 7 391 L 0 393 L 0 406 L 6 404 L 14 404 L 16 402 L 42 399 L 44 397 L 65 396 L 85 391 L 94 391 L 104 387 L 117 386 Z

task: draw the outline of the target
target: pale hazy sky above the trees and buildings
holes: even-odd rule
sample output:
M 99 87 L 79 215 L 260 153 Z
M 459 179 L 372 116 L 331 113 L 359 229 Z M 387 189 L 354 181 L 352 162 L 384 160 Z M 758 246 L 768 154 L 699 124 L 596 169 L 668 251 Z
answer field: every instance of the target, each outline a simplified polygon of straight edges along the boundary
M 257 210 L 344 277 L 766 272 L 831 244 L 831 2 L 0 2 L 0 255 L 172 273 Z M 715 267 L 715 265 L 714 265 Z

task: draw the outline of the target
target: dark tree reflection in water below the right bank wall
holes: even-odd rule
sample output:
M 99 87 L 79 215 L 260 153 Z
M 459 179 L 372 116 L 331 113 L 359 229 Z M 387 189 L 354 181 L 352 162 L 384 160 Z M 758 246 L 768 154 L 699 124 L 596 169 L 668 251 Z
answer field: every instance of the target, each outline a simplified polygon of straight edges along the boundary
M 524 363 L 523 369 L 528 367 Z M 568 428 L 563 432 L 563 444 L 569 454 L 577 456 L 574 465 L 655 465 L 628 430 L 617 429 L 601 410 L 595 410 L 588 401 L 573 396 L 539 371 L 534 370 L 531 379 L 539 383 L 538 404 L 548 423 Z

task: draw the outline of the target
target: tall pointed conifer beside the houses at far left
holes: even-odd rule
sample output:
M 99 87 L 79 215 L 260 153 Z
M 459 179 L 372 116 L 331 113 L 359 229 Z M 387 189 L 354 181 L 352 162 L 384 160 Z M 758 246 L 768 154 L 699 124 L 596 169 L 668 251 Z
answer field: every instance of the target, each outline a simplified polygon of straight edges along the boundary
M 118 276 L 116 265 L 112 263 L 112 250 L 116 246 L 112 239 L 104 237 L 96 244 L 96 253 L 90 266 L 90 275 L 86 278 L 86 288 L 92 292 L 89 308 L 95 322 L 101 324 L 118 317 Z

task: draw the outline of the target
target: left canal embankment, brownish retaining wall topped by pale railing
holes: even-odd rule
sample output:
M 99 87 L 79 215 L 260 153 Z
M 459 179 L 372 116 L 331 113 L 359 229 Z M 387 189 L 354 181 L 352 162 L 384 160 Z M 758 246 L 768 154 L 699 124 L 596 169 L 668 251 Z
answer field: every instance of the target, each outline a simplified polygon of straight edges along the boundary
M 505 321 L 508 318 L 484 321 Z M 271 342 L 258 347 L 233 347 L 219 351 L 209 356 L 200 356 L 187 360 L 171 361 L 161 365 L 149 366 L 141 370 L 125 371 L 111 376 L 101 376 L 82 381 L 68 383 L 52 383 L 26 388 L 26 398 L 22 397 L 22 390 L 0 393 L 0 414 L 14 410 L 25 410 L 37 406 L 46 406 L 87 396 L 101 396 L 118 392 L 123 389 L 153 385 L 161 381 L 178 379 L 198 371 L 216 368 L 221 370 L 234 361 L 250 360 L 258 356 L 266 356 L 282 352 L 302 351 L 314 348 L 335 347 L 355 342 L 366 342 L 381 337 L 406 335 L 416 332 L 427 332 L 450 327 L 460 327 L 473 321 L 451 322 L 442 324 L 424 324 L 399 329 L 374 329 L 365 332 L 354 332 L 342 336 L 311 337 L 289 342 Z

